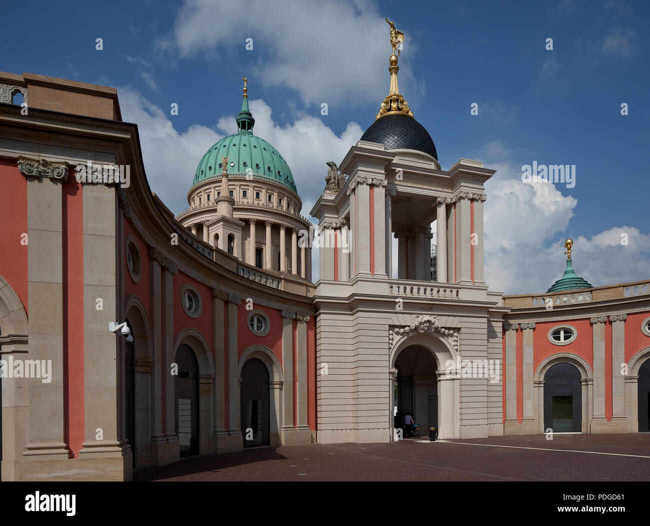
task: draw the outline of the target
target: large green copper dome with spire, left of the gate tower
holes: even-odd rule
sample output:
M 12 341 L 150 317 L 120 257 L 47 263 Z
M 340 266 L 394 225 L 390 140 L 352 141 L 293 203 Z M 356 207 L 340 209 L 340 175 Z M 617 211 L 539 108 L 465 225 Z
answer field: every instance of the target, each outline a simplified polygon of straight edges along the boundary
M 222 138 L 203 155 L 194 173 L 194 185 L 204 179 L 220 177 L 223 171 L 222 157 L 228 157 L 228 175 L 252 174 L 285 185 L 298 193 L 289 165 L 279 151 L 263 138 L 253 135 L 255 119 L 248 110 L 248 95 L 244 92 L 242 109 L 237 116 L 235 135 Z

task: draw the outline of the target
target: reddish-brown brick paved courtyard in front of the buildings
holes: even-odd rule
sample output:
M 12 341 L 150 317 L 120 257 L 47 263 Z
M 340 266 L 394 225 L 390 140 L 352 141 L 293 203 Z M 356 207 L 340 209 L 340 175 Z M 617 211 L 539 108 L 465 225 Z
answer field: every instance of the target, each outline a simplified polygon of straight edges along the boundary
M 650 480 L 650 434 L 259 447 L 138 471 L 134 480 Z

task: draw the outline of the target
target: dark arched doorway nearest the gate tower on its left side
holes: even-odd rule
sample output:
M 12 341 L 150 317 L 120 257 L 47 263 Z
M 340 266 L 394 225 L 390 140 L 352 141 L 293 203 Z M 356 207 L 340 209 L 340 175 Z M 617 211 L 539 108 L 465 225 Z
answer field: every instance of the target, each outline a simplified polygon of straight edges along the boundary
M 270 399 L 264 362 L 250 358 L 241 371 L 240 408 L 244 447 L 269 445 Z

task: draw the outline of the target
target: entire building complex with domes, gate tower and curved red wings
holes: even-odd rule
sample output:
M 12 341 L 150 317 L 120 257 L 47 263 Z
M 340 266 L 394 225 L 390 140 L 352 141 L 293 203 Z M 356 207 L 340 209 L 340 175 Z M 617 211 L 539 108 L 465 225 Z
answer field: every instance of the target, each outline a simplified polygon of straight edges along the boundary
M 389 95 L 311 210 L 319 276 L 300 175 L 254 135 L 246 84 L 174 215 L 116 90 L 0 73 L 2 480 L 394 441 L 405 414 L 439 439 L 650 430 L 650 280 L 593 287 L 567 242 L 549 291 L 491 291 L 495 172 L 441 168 L 397 33 Z

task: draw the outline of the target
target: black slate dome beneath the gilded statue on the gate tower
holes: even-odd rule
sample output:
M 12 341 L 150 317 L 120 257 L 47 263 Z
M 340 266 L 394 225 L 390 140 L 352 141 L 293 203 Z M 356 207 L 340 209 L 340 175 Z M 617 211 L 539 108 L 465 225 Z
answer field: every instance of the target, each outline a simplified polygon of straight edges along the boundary
M 386 150 L 406 148 L 423 151 L 436 161 L 438 153 L 429 132 L 417 120 L 408 115 L 385 115 L 377 119 L 365 131 L 361 140 L 383 144 Z

